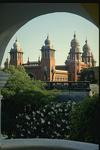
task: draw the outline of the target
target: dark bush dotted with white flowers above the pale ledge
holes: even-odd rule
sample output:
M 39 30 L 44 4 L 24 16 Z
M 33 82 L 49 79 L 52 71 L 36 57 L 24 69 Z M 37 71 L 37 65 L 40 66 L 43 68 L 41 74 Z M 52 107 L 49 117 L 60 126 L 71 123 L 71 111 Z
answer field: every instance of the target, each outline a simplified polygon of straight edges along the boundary
M 69 137 L 69 112 L 74 102 L 50 102 L 33 110 L 30 105 L 16 116 L 15 138 L 60 138 Z

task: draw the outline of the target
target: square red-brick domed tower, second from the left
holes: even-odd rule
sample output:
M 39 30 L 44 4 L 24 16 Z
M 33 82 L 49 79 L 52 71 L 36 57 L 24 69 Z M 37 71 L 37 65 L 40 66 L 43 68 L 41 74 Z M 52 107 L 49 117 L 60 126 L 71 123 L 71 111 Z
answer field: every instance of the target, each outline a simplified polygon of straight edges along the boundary
M 42 80 L 52 81 L 55 78 L 55 49 L 51 47 L 49 36 L 47 36 L 44 44 L 41 48 L 41 78 Z

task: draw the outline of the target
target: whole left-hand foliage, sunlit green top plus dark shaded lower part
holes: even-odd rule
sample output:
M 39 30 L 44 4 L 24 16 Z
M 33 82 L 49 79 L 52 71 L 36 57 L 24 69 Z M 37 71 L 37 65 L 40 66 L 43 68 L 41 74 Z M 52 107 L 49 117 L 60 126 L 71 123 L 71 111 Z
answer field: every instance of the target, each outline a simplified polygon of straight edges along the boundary
M 10 138 L 12 131 L 15 131 L 17 113 L 22 113 L 26 105 L 31 105 L 35 109 L 40 108 L 52 101 L 54 96 L 44 90 L 43 82 L 31 80 L 23 67 L 10 66 L 4 71 L 11 75 L 1 90 L 2 132 Z

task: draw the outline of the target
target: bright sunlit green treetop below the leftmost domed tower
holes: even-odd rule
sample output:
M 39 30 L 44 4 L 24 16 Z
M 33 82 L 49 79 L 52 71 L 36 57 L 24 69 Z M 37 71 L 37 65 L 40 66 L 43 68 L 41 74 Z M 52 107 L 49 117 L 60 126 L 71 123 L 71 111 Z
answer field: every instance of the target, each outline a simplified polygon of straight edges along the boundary
M 1 90 L 4 98 L 13 96 L 20 91 L 35 90 L 35 86 L 33 86 L 30 77 L 23 67 L 18 66 L 15 68 L 15 66 L 10 66 L 4 71 L 11 74 L 5 87 Z

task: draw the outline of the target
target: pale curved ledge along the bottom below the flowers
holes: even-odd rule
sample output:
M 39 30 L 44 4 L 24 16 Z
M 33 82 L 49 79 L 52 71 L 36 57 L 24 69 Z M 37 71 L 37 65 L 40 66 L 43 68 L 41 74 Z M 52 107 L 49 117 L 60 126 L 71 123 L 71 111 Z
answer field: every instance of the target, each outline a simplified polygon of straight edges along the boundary
M 3 150 L 99 150 L 98 144 L 61 139 L 2 140 Z

